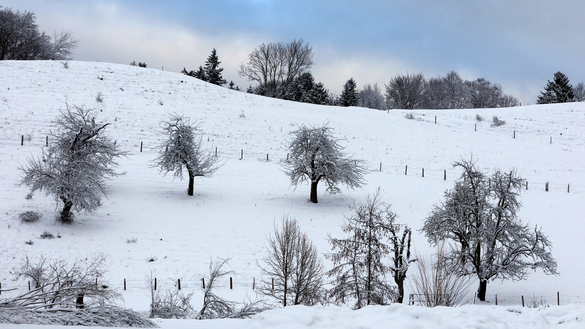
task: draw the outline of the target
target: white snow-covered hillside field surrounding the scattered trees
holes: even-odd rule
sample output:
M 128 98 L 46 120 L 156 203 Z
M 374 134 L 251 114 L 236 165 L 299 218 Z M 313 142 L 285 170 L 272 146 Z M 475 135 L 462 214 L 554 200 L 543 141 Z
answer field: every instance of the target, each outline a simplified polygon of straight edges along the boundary
M 98 92 L 104 94 L 103 103 L 95 100 Z M 55 207 L 50 197 L 35 195 L 26 200 L 27 189 L 15 186 L 19 179 L 16 167 L 30 154 L 39 152 L 44 144 L 43 133 L 50 128 L 49 121 L 59 108 L 64 108 L 65 102 L 97 109 L 100 119 L 112 123 L 106 129 L 108 134 L 133 152 L 128 159 L 121 160 L 121 170 L 127 174 L 109 182 L 112 194 L 103 200 L 97 214 L 79 214 L 71 226 L 54 222 Z M 149 161 L 156 157 L 150 149 L 159 142 L 158 124 L 172 112 L 185 113 L 200 121 L 205 137 L 209 137 L 209 147 L 218 147 L 225 160 L 212 178 L 195 181 L 192 197 L 184 193 L 186 181 L 173 181 L 172 176 L 163 177 L 157 169 L 149 167 Z M 585 263 L 581 255 L 585 247 L 585 227 L 581 225 L 585 217 L 585 103 L 412 112 L 416 119 L 408 120 L 404 110 L 387 113 L 281 101 L 230 91 L 174 72 L 122 64 L 72 61 L 69 68 L 64 68 L 53 61 L 1 61 L 0 282 L 3 287 L 17 284 L 11 281 L 9 271 L 25 253 L 33 259 L 41 254 L 76 259 L 99 251 L 111 256 L 111 282 L 122 286 L 122 280 L 128 280 L 128 290 L 123 291 L 126 307 L 147 309 L 145 286 L 130 280 L 143 280 L 150 269 L 156 271 L 163 288 L 174 289 L 176 280 L 181 279 L 183 289 L 195 289 L 197 307 L 200 275 L 206 272 L 209 259 L 232 257 L 235 286 L 232 290 L 223 288 L 220 293 L 242 300 L 246 294 L 255 296 L 252 280 L 256 278 L 257 282 L 260 276 L 256 261 L 261 260 L 274 220 L 283 214 L 296 217 L 319 251 L 327 252 L 326 234 L 343 234 L 339 224 L 343 214 L 348 213 L 347 205 L 362 202 L 380 186 L 383 200 L 392 203 L 394 212 L 400 216 L 398 222 L 418 229 L 433 203 L 441 200 L 443 191 L 457 177 L 450 164 L 473 153 L 486 171 L 517 167 L 528 179 L 520 216 L 532 225 L 542 226 L 549 234 L 560 272 L 559 276 L 535 272 L 520 282 L 495 280 L 488 284 L 488 300 L 493 300 L 497 293 L 500 304 L 510 305 L 518 304 L 521 295 L 534 295 L 546 296 L 543 299 L 547 303 L 556 304 L 556 293 L 560 292 L 562 303 L 585 302 L 582 280 Z M 486 120 L 477 122 L 476 114 Z M 507 124 L 490 127 L 494 115 Z M 325 122 L 335 127 L 338 136 L 346 138 L 343 143 L 346 151 L 370 162 L 372 172 L 366 176 L 364 189 L 346 191 L 343 195 L 324 195 L 324 187 L 320 186 L 319 203 L 312 204 L 307 202 L 308 186 L 296 190 L 289 187 L 279 159 L 286 157 L 288 132 L 297 124 Z M 516 138 L 512 138 L 514 131 Z M 25 139 L 24 146 L 20 146 L 22 135 L 31 137 L 30 141 Z M 240 150 L 244 151 L 242 160 Z M 550 182 L 548 192 L 544 188 L 546 182 Z M 42 220 L 20 223 L 17 215 L 25 210 L 42 213 Z M 61 238 L 37 238 L 44 230 L 59 233 Z M 127 243 L 130 238 L 137 242 Z M 415 248 L 423 255 L 432 254 L 422 234 L 414 234 L 413 239 Z M 25 244 L 27 240 L 34 244 Z M 151 257 L 156 257 L 156 261 L 147 262 Z M 407 316 L 398 311 L 401 307 L 389 306 L 388 313 L 381 317 L 387 316 L 391 321 L 393 317 Z M 548 312 L 553 320 L 547 321 L 554 323 L 558 320 L 555 310 L 542 310 L 539 314 Z M 563 314 L 573 314 L 573 310 L 583 313 L 583 309 L 565 310 Z M 254 318 L 249 325 L 260 327 L 260 321 L 270 321 L 274 314 L 305 320 L 319 317 L 312 313 L 321 314 L 318 308 L 288 315 L 286 312 L 262 314 L 264 320 Z M 369 308 L 348 313 L 331 308 L 322 312 L 321 318 L 357 321 L 367 317 L 368 312 L 377 311 Z M 436 312 L 443 315 L 434 316 L 446 321 L 445 317 L 455 314 L 449 312 L 460 312 L 457 314 L 464 317 L 466 312 L 477 309 L 417 308 L 411 312 Z M 522 318 L 535 310 L 506 313 L 504 307 L 490 306 L 481 312 Z M 425 321 L 433 323 L 429 319 L 431 315 Z M 222 327 L 229 327 L 229 323 L 233 322 L 225 321 Z M 270 327 L 267 323 L 264 327 Z M 442 323 L 450 328 L 448 322 Z

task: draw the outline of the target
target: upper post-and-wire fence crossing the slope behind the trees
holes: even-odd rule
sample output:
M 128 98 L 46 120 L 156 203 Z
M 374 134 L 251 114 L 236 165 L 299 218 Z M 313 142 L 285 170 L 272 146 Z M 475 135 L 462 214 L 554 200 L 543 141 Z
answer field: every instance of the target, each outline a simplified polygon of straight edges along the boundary
M 30 135 L 21 135 L 21 136 L 11 136 L 11 135 L 0 135 L 0 140 L 6 141 L 20 141 L 20 145 L 23 146 L 25 143 L 30 145 L 36 146 L 47 146 L 49 144 L 49 135 L 45 137 L 32 137 Z M 160 144 L 146 144 L 144 142 L 140 143 L 128 143 L 126 142 L 118 142 L 115 141 L 116 145 L 127 148 L 129 150 L 140 150 L 143 151 L 156 151 L 157 148 L 160 148 Z M 288 160 L 288 154 L 270 154 L 270 153 L 260 153 L 254 152 L 244 149 L 233 150 L 230 148 L 219 148 L 219 147 L 212 147 L 212 148 L 205 148 L 205 151 L 215 153 L 216 155 L 222 156 L 236 156 L 239 160 L 243 160 L 244 158 L 257 158 L 259 160 L 265 159 L 266 161 L 272 160 Z M 404 175 L 415 175 L 415 176 L 431 176 L 441 177 L 443 180 L 448 178 L 453 178 L 455 176 L 458 178 L 461 173 L 460 172 L 453 172 L 447 171 L 446 168 L 443 169 L 429 169 L 424 167 L 409 167 L 408 165 L 390 165 L 384 164 L 383 162 L 369 162 L 369 161 L 361 161 L 362 164 L 367 165 L 367 168 L 372 172 L 383 172 L 384 169 L 394 169 L 395 172 L 404 172 Z M 388 172 L 388 170 L 386 170 Z M 585 185 L 571 185 L 570 183 L 550 183 L 550 182 L 543 182 L 543 183 L 534 183 L 534 182 L 526 182 L 525 189 L 539 189 L 544 190 L 546 192 L 549 191 L 560 191 L 560 192 L 571 192 L 571 191 L 585 191 Z

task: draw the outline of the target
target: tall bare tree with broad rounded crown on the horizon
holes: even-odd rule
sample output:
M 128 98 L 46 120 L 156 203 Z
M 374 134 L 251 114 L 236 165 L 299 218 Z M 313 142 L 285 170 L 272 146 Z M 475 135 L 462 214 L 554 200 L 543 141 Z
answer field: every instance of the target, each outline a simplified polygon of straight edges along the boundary
M 248 55 L 248 63 L 240 64 L 238 74 L 256 81 L 266 93 L 276 95 L 277 87 L 287 84 L 313 65 L 313 49 L 303 39 L 290 43 L 260 44 Z

